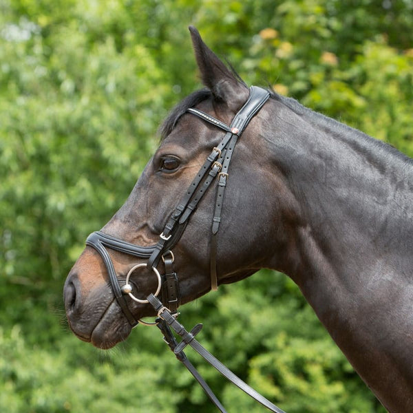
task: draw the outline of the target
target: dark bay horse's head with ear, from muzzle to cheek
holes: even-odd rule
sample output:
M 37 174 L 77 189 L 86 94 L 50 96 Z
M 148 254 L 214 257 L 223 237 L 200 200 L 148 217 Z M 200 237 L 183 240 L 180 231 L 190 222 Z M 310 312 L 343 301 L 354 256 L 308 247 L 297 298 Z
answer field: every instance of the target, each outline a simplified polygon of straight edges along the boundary
M 279 256 L 283 255 L 288 222 L 295 219 L 294 207 L 288 207 L 288 219 L 279 216 L 286 211 L 273 208 L 277 196 L 283 197 L 283 204 L 286 204 L 288 191 L 282 178 L 266 173 L 271 169 L 269 143 L 265 139 L 270 133 L 270 114 L 264 105 L 268 92 L 261 103 L 263 108 L 257 108 L 257 111 L 261 110 L 254 113 L 256 116 L 251 118 L 236 149 L 231 148 L 229 142 L 222 150 L 226 152 L 221 153 L 216 148 L 226 135 L 231 137 L 231 131 L 222 130 L 224 127 L 217 127 L 213 122 L 231 124 L 248 100 L 250 89 L 211 52 L 198 31 L 190 30 L 205 89 L 187 96 L 173 109 L 160 129 L 160 146 L 129 198 L 95 235 L 99 237 L 95 241 L 100 246 L 101 242 L 105 244 L 105 240 L 109 240 L 103 246 L 107 252 L 96 251 L 96 245 L 90 240 L 65 282 L 65 308 L 73 332 L 99 348 L 109 348 L 124 340 L 134 325 L 131 319 L 153 315 L 145 297 L 159 292 L 160 277 L 166 271 L 162 260 L 170 263 L 173 254 L 173 273 L 178 275 L 176 299 L 179 304 L 184 304 L 211 290 L 211 271 L 216 273 L 212 286 L 215 287 L 214 284 L 231 283 L 247 277 L 262 267 L 273 267 L 274 251 L 278 251 Z M 200 111 L 204 118 L 194 116 L 188 109 Z M 208 121 L 205 114 L 211 116 L 213 122 Z M 236 134 L 232 136 L 237 138 Z M 178 201 L 185 197 L 191 184 L 195 185 L 197 173 L 202 173 L 202 165 L 211 157 L 211 151 L 215 160 L 208 165 L 208 173 L 202 175 L 199 185 L 196 183 L 197 191 L 188 199 L 190 214 L 187 213 L 186 220 L 178 217 L 184 222 L 177 225 L 180 227 L 179 237 L 174 234 L 176 242 L 171 254 L 172 248 L 163 245 L 168 240 L 162 230 L 165 232 L 165 225 L 171 220 L 172 211 L 176 211 Z M 231 170 L 221 171 L 226 156 L 232 157 Z M 215 178 L 212 173 L 218 178 L 211 184 L 208 180 Z M 217 195 L 216 188 L 222 187 L 222 180 L 225 180 L 225 192 Z M 205 193 L 202 193 L 202 187 Z M 198 195 L 202 199 L 197 200 Z M 217 200 L 220 196 L 224 198 L 221 202 Z M 217 208 L 220 209 L 218 218 L 215 216 Z M 277 226 L 275 222 L 278 222 Z M 213 225 L 220 226 L 220 231 L 215 231 L 214 235 Z M 144 254 L 125 253 L 122 248 L 113 248 L 110 240 L 122 240 L 131 248 L 142 246 Z M 158 240 L 163 245 L 162 251 L 155 254 L 151 266 L 147 266 L 147 257 L 150 260 L 153 256 L 153 246 Z M 147 257 L 144 257 L 145 252 Z M 123 290 L 123 293 L 131 294 L 120 298 L 126 301 L 126 310 L 122 310 L 114 297 L 113 282 L 111 286 L 102 254 L 113 266 L 115 284 L 125 284 L 129 275 L 129 290 Z M 211 254 L 214 255 L 212 264 Z M 277 261 L 280 266 L 282 260 Z M 216 269 L 211 269 L 211 265 Z M 158 272 L 157 268 L 162 275 L 154 272 Z M 125 316 L 125 311 L 130 313 L 129 317 Z

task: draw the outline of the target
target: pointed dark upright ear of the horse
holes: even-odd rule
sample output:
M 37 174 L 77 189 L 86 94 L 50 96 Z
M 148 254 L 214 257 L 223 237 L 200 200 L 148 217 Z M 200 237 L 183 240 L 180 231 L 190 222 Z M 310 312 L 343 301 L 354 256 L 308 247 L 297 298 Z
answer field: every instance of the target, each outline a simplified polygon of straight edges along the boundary
M 248 98 L 248 87 L 209 49 L 202 41 L 198 30 L 189 26 L 189 32 L 191 32 L 202 83 L 211 90 L 215 100 L 226 103 L 233 112 L 236 112 Z

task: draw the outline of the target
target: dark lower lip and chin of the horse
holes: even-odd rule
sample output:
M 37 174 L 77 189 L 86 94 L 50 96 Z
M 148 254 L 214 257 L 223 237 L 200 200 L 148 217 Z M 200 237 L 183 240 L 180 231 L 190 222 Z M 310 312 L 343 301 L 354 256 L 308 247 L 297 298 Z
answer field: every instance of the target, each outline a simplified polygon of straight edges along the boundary
M 127 319 L 120 313 L 116 301 L 107 308 L 105 315 L 98 321 L 89 342 L 96 348 L 107 350 L 127 339 L 132 328 Z

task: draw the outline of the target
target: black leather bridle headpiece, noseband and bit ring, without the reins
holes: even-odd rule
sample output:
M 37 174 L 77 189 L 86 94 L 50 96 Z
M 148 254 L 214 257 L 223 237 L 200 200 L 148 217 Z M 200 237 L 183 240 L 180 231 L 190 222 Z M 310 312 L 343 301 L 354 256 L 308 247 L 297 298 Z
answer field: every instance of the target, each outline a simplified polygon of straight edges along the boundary
M 205 160 L 204 165 L 202 165 L 200 171 L 198 171 L 195 178 L 189 185 L 189 188 L 178 203 L 178 206 L 171 213 L 167 224 L 159 236 L 157 244 L 153 246 L 137 246 L 100 231 L 96 231 L 87 237 L 86 244 L 95 248 L 103 258 L 103 262 L 107 268 L 107 273 L 109 274 L 109 280 L 114 296 L 116 297 L 118 304 L 122 308 L 123 313 L 125 313 L 125 316 L 131 326 L 136 326 L 138 321 L 132 315 L 131 310 L 129 310 L 125 295 L 129 295 L 129 297 L 138 302 L 143 301 L 147 303 L 147 300 L 136 299 L 136 297 L 132 294 L 132 286 L 129 284 L 129 275 L 133 269 L 129 271 L 127 277 L 128 282 L 122 287 L 120 286 L 118 277 L 116 277 L 114 264 L 112 263 L 106 248 L 111 248 L 116 251 L 120 251 L 121 253 L 133 255 L 134 257 L 147 259 L 147 268 L 156 273 L 158 273 L 156 266 L 162 258 L 165 263 L 165 274 L 162 275 L 162 279 L 158 276 L 158 274 L 156 274 L 156 277 L 158 278 L 158 288 L 153 295 L 156 296 L 160 293 L 160 291 L 162 291 L 162 302 L 167 306 L 167 308 L 169 308 L 169 310 L 171 310 L 172 313 L 176 314 L 180 304 L 180 295 L 178 276 L 173 271 L 172 266 L 173 255 L 171 253 L 171 249 L 180 240 L 191 214 L 195 211 L 198 203 L 207 192 L 207 189 L 218 176 L 218 189 L 215 197 L 215 209 L 212 219 L 210 252 L 211 290 L 216 290 L 218 288 L 216 270 L 218 244 L 217 236 L 218 229 L 220 228 L 222 204 L 224 201 L 226 182 L 228 180 L 229 164 L 231 162 L 233 150 L 238 138 L 240 138 L 242 132 L 253 116 L 255 116 L 264 103 L 266 103 L 269 96 L 269 92 L 265 89 L 252 86 L 250 88 L 248 100 L 246 100 L 244 106 L 235 115 L 231 125 L 229 126 L 220 120 L 213 118 L 213 116 L 200 111 L 199 109 L 187 109 L 188 113 L 198 116 L 202 120 L 219 127 L 225 131 L 226 134 L 224 135 L 224 138 L 222 138 L 220 144 L 212 149 L 211 153 L 207 157 L 207 160 Z

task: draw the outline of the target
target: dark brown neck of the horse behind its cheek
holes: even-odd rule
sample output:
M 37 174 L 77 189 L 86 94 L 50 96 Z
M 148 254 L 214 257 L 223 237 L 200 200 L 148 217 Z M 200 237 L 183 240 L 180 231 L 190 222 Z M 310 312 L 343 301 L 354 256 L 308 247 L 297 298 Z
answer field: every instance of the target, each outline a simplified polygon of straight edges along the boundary
M 412 164 L 359 131 L 278 106 L 266 142 L 300 218 L 281 269 L 379 399 L 395 405 L 385 396 L 392 381 L 404 383 L 393 389 L 400 399 L 407 388 L 413 394 L 401 356 L 413 328 L 405 304 L 413 299 Z M 378 342 L 383 334 L 391 343 Z

